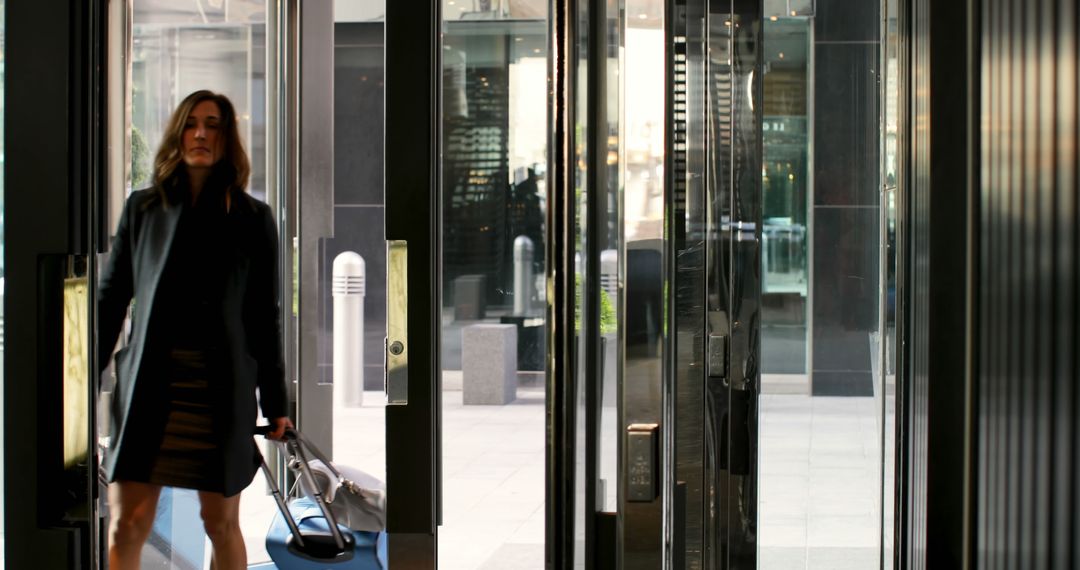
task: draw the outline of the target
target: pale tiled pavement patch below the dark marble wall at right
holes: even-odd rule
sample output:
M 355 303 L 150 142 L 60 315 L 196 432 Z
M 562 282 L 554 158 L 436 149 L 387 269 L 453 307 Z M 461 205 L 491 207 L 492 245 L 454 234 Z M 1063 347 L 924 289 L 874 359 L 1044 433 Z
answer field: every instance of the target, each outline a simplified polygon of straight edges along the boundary
M 764 395 L 760 409 L 759 568 L 878 568 L 875 399 Z

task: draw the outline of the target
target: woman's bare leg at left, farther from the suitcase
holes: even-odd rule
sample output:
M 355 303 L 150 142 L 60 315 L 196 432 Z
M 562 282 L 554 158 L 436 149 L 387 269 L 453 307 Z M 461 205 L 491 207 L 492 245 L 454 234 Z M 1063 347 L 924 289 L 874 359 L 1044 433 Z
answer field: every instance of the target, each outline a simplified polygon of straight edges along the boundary
M 159 496 L 159 485 L 109 484 L 109 570 L 139 570 L 143 544 L 153 528 Z

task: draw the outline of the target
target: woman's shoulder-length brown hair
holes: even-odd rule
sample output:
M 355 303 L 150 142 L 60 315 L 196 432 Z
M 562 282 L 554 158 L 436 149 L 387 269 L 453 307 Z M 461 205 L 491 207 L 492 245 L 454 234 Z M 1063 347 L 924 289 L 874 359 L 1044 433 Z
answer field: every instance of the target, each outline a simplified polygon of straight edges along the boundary
M 187 171 L 180 167 L 184 165 L 184 128 L 192 109 L 204 100 L 216 103 L 221 112 L 219 128 L 224 137 L 221 140 L 224 152 L 221 160 L 214 165 L 213 175 L 225 185 L 228 192 L 243 192 L 247 188 L 252 163 L 240 140 L 237 110 L 225 95 L 200 90 L 185 97 L 173 111 L 168 125 L 165 126 L 161 147 L 158 148 L 158 154 L 153 159 L 153 186 L 166 203 L 173 202 L 171 199 L 179 190 L 177 188 L 179 182 L 186 180 Z

